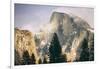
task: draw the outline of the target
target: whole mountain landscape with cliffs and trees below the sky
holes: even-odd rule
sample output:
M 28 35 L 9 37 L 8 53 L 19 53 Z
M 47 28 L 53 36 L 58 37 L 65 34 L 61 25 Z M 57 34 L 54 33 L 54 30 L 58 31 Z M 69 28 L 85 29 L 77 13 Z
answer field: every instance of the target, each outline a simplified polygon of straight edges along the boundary
M 51 31 L 15 28 L 15 65 L 94 60 L 94 32 L 77 16 L 53 12 Z

